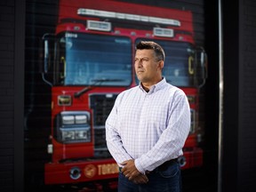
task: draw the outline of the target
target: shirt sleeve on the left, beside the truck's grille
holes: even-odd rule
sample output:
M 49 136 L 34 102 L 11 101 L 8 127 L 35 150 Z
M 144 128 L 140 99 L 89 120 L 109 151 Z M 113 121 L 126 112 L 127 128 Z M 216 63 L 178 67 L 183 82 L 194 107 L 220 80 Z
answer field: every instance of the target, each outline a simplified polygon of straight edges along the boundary
M 116 102 L 114 107 L 112 108 L 108 119 L 106 121 L 106 140 L 107 140 L 107 146 L 108 150 L 113 156 L 113 158 L 116 160 L 116 163 L 120 164 L 123 163 L 126 160 L 132 159 L 132 157 L 126 152 L 124 149 L 121 137 L 118 133 L 118 105 L 120 102 L 120 95 L 116 98 Z

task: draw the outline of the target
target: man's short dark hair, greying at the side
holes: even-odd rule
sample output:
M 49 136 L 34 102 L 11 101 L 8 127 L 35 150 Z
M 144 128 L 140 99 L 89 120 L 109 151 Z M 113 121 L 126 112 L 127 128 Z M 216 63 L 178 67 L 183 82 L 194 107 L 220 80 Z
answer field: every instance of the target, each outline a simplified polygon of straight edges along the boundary
M 154 52 L 156 53 L 157 61 L 165 60 L 164 49 L 162 48 L 162 46 L 160 46 L 160 44 L 156 44 L 156 42 L 152 42 L 152 41 L 140 41 L 136 45 L 136 50 L 144 50 L 144 49 L 154 50 Z

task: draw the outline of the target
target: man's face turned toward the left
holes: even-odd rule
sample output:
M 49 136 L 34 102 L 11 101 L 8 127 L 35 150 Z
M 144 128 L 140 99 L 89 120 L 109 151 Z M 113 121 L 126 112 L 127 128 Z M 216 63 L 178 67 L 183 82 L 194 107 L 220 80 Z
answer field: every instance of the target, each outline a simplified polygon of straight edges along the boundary
M 141 83 L 156 84 L 161 76 L 161 61 L 157 61 L 153 50 L 137 50 L 135 54 L 135 72 Z

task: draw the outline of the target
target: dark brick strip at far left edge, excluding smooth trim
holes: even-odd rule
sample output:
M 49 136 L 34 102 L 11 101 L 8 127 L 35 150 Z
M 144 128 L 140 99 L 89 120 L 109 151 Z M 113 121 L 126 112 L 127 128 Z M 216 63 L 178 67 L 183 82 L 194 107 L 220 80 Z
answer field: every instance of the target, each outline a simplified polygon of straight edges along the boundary
M 14 0 L 0 3 L 0 186 L 13 188 Z

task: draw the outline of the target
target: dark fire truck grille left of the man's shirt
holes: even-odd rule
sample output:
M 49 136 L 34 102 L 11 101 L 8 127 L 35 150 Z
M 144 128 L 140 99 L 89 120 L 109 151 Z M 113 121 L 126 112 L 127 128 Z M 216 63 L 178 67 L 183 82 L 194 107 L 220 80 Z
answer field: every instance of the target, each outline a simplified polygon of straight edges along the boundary
M 90 106 L 92 108 L 92 122 L 94 127 L 94 156 L 109 157 L 105 122 L 114 106 L 117 94 L 92 94 Z

